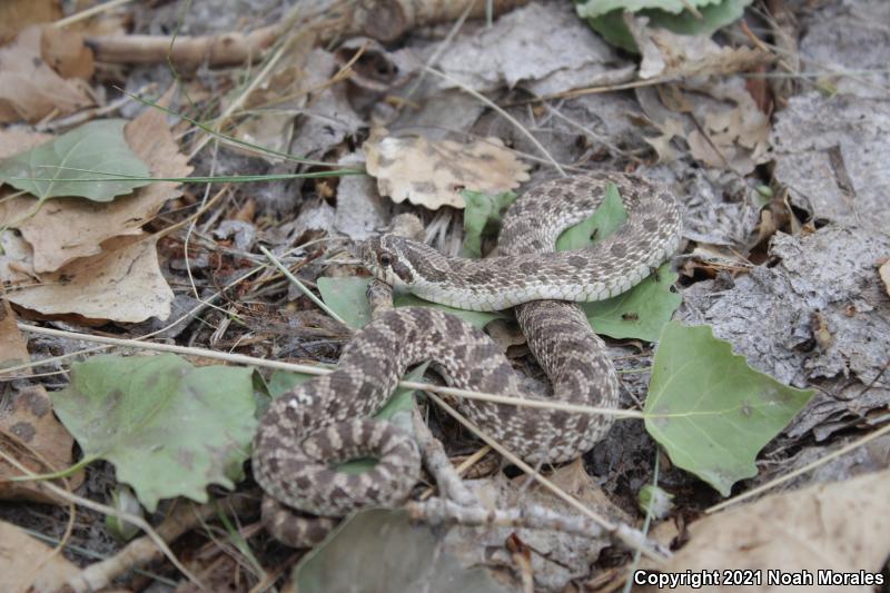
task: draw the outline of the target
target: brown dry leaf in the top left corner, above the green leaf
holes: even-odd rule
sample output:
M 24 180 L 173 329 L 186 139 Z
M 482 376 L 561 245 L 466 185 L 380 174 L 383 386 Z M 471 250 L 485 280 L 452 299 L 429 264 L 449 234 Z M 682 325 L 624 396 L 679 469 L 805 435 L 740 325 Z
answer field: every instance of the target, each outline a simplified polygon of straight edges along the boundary
M 38 121 L 93 105 L 89 85 L 60 77 L 40 56 L 40 27 L 0 49 L 0 122 Z

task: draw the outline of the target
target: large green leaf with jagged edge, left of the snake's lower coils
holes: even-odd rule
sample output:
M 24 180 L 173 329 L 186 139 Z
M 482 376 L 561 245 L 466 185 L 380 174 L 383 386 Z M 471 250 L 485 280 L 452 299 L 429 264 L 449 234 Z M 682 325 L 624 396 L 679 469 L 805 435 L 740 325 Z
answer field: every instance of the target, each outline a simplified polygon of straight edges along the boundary
M 115 464 L 154 512 L 160 498 L 206 502 L 209 484 L 235 486 L 257 426 L 251 373 L 172 354 L 93 356 L 51 397 L 85 458 Z

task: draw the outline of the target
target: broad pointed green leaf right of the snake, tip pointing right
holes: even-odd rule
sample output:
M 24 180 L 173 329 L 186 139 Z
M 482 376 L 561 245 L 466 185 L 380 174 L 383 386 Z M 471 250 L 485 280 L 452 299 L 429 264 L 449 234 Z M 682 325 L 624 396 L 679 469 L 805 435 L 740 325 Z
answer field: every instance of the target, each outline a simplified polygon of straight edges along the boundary
M 813 395 L 748 366 L 711 327 L 664 326 L 643 413 L 678 467 L 729 496 L 756 475 L 754 459 Z

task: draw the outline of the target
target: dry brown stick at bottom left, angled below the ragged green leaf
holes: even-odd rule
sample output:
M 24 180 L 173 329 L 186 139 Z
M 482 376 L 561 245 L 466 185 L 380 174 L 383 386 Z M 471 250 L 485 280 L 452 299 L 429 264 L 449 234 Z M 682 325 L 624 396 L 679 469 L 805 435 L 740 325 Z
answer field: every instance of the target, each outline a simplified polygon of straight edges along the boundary
M 191 503 L 178 505 L 156 528 L 165 542 L 172 542 L 184 533 L 214 518 L 220 510 L 241 514 L 256 508 L 256 497 L 233 494 L 221 501 L 212 501 L 198 507 Z M 79 574 L 68 580 L 75 591 L 99 591 L 127 571 L 145 566 L 158 560 L 160 552 L 150 537 L 144 535 L 127 544 L 110 559 L 90 564 Z

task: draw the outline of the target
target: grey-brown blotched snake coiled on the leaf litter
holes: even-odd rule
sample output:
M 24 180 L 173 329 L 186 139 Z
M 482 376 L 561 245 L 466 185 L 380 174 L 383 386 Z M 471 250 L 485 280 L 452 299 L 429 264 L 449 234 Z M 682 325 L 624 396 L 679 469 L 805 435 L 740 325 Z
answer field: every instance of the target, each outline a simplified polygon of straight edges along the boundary
M 589 218 L 612 184 L 625 223 L 592 247 L 555 251 L 562 231 Z M 545 181 L 516 198 L 493 257 L 451 257 L 393 234 L 365 241 L 364 266 L 396 289 L 463 309 L 514 307 L 550 393 L 531 393 L 502 348 L 458 317 L 429 307 L 392 309 L 354 335 L 332 373 L 286 393 L 260 419 L 251 466 L 265 492 L 266 530 L 284 544 L 312 546 L 356 508 L 408 497 L 419 480 L 418 447 L 406 431 L 372 415 L 422 362 L 459 389 L 617 407 L 617 374 L 575 302 L 629 290 L 679 249 L 681 233 L 668 188 L 633 175 L 592 172 Z M 462 398 L 459 409 L 535 464 L 582 455 L 612 424 L 609 415 L 471 398 Z M 376 464 L 362 473 L 338 471 L 359 457 Z

